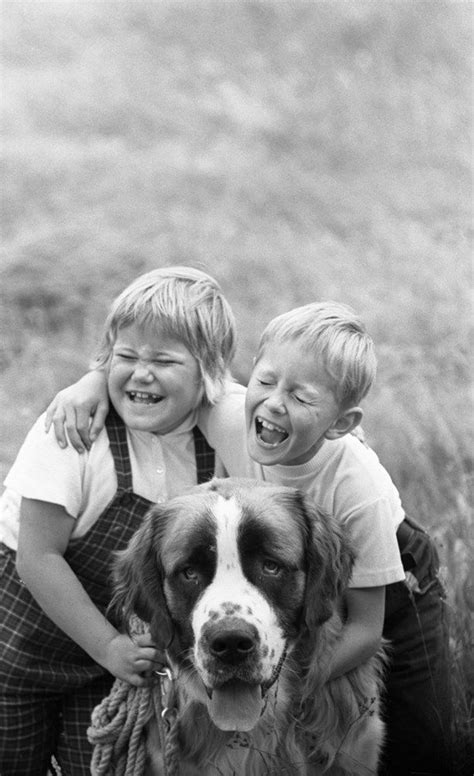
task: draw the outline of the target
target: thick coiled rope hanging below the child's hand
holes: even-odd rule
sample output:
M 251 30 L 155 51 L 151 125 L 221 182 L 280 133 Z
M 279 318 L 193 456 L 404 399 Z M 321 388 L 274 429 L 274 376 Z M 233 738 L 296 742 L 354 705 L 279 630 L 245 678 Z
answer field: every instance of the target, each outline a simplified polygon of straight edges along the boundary
M 110 694 L 92 712 L 87 731 L 94 747 L 92 776 L 143 776 L 144 729 L 153 711 L 153 686 L 115 680 Z

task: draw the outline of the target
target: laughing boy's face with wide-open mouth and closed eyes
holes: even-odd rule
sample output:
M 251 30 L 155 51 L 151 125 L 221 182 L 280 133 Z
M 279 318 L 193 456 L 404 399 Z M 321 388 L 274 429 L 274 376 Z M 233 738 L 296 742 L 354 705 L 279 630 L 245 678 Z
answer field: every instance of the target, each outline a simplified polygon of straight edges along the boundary
M 249 455 L 265 466 L 309 461 L 340 413 L 321 361 L 295 342 L 267 343 L 245 409 Z

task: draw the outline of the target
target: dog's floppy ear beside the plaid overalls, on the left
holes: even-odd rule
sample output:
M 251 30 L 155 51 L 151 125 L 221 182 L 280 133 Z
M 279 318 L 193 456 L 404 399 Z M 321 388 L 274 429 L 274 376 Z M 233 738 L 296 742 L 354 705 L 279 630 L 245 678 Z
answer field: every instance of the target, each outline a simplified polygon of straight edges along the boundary
M 164 511 L 153 506 L 125 550 L 116 554 L 114 595 L 110 604 L 110 611 L 126 628 L 133 615 L 149 624 L 161 649 L 166 649 L 173 638 L 159 558 L 160 523 Z

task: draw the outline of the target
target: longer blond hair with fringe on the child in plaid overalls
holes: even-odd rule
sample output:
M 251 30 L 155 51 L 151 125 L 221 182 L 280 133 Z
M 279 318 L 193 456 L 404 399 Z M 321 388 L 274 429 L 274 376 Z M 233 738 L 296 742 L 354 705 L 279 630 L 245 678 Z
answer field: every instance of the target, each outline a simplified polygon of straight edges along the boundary
M 97 367 L 109 363 L 119 329 L 131 324 L 160 326 L 181 340 L 199 364 L 203 401 L 214 404 L 219 399 L 235 352 L 235 321 L 214 278 L 184 266 L 140 275 L 112 302 Z

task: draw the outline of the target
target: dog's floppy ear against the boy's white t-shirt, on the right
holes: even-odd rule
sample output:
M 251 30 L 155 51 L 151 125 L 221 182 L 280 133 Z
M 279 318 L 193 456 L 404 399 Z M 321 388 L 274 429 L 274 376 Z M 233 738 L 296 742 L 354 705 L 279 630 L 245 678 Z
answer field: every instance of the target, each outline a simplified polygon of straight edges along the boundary
M 299 494 L 309 535 L 303 617 L 313 631 L 328 620 L 348 585 L 353 555 L 342 527 L 318 510 L 308 496 Z

